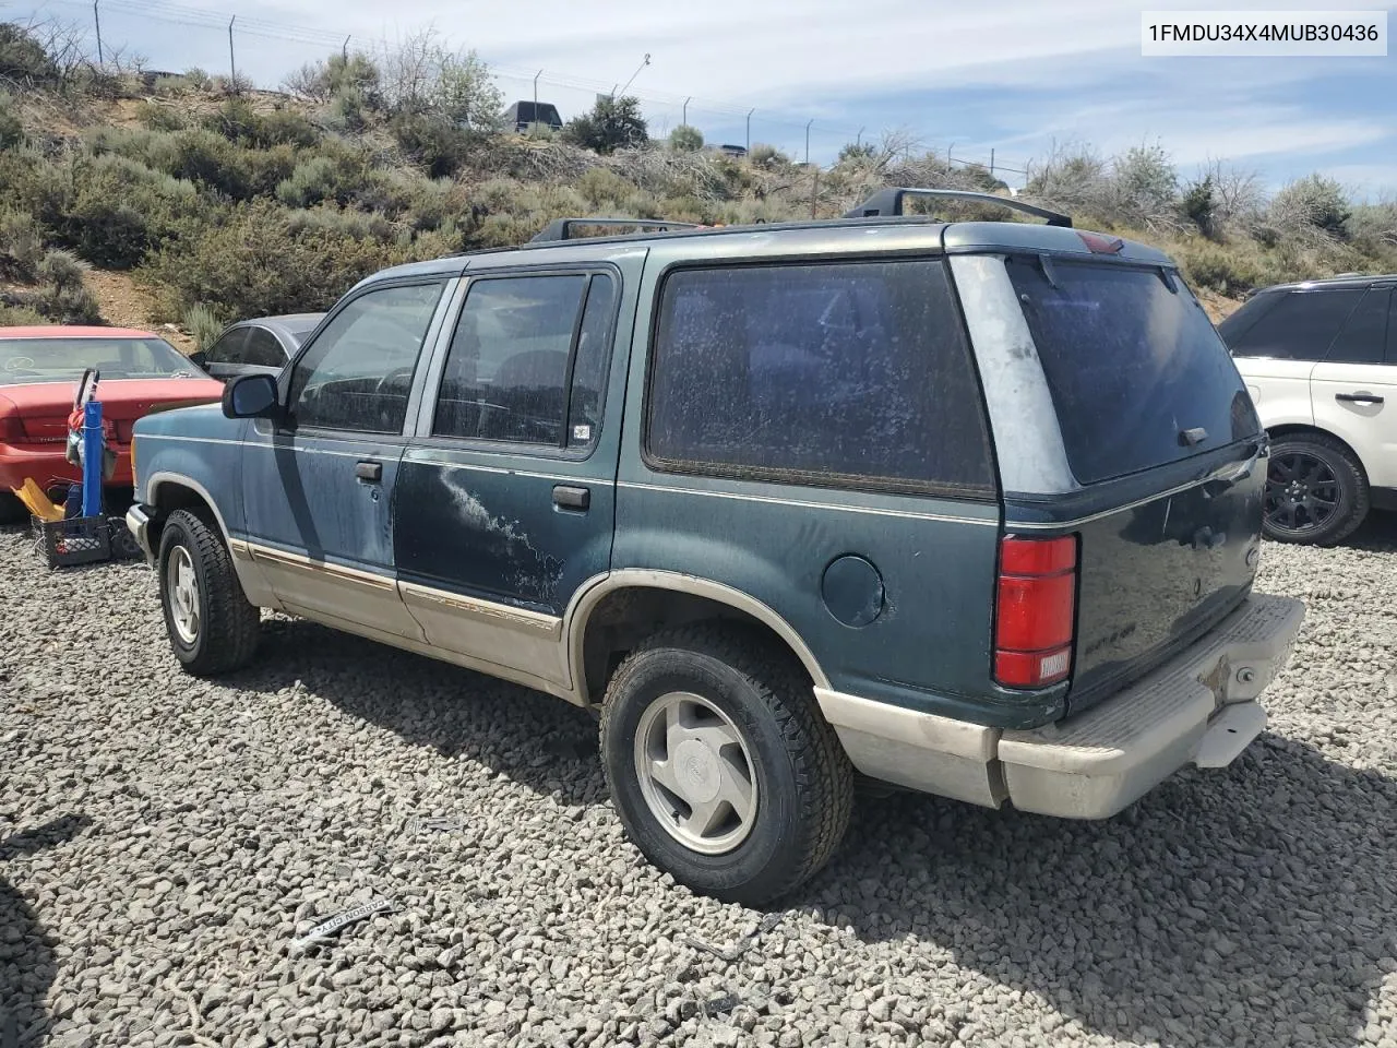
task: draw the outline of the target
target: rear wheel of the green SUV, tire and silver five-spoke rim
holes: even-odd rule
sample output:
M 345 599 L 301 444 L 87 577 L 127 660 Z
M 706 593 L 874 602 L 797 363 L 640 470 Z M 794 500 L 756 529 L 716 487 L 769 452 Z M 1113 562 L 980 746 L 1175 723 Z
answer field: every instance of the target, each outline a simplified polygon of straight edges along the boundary
M 655 634 L 606 689 L 602 763 L 645 858 L 694 891 L 761 905 L 848 829 L 854 770 L 788 653 L 725 625 Z

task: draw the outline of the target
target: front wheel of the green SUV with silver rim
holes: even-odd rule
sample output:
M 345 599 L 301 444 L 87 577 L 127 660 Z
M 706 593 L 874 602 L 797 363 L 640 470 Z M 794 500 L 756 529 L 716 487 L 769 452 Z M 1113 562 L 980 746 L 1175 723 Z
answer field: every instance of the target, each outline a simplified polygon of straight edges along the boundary
M 222 537 L 190 510 L 176 510 L 161 531 L 156 559 L 165 632 L 187 674 L 215 676 L 247 665 L 257 653 L 261 612 L 247 602 Z

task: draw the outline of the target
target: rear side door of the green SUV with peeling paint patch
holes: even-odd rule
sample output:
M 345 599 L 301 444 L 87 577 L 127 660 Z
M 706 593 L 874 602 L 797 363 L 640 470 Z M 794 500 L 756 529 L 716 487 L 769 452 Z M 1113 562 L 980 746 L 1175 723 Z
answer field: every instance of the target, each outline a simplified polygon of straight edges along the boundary
M 620 278 L 472 279 L 398 474 L 398 578 L 427 640 L 555 690 L 570 686 L 563 612 L 610 565 Z

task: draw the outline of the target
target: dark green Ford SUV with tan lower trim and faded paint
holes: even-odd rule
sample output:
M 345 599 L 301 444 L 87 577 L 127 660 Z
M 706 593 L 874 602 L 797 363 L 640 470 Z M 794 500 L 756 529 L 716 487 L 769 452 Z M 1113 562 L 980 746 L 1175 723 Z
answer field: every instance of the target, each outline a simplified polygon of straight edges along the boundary
M 747 904 L 856 773 L 1097 819 L 1228 764 L 1303 606 L 1252 590 L 1225 347 L 1155 250 L 905 194 L 387 270 L 142 421 L 176 658 L 246 665 L 277 608 L 597 708 L 630 838 Z

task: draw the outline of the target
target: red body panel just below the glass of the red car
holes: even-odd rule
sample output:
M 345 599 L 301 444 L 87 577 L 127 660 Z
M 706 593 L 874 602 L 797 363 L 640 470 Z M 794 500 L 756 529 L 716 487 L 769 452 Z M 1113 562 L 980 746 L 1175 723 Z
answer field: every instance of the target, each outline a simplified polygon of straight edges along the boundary
M 18 414 L 31 437 L 64 437 L 75 394 L 75 381 L 0 386 L 0 411 Z M 96 387 L 102 418 L 124 423 L 116 425 L 119 440 L 130 440 L 131 423 L 151 411 L 211 404 L 222 395 L 224 384 L 214 379 L 110 379 Z

